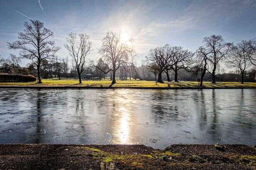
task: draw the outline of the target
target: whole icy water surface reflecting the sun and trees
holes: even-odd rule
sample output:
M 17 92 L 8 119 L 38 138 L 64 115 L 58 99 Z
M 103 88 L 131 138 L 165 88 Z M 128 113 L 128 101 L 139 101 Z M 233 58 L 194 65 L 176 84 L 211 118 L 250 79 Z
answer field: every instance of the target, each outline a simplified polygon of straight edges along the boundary
M 0 143 L 256 141 L 256 90 L 0 91 Z

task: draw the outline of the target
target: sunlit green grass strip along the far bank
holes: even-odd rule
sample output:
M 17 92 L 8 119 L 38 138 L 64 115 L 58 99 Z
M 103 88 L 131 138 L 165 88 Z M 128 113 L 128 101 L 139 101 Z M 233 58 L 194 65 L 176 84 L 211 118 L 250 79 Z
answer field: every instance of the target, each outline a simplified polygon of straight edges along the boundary
M 0 86 L 109 86 L 110 80 L 82 80 L 82 84 L 78 84 L 79 81 L 76 79 L 42 79 L 42 84 L 37 82 L 13 82 L 13 83 L 0 83 Z M 211 82 L 204 82 L 205 87 L 256 87 L 256 83 L 244 83 L 239 82 L 217 82 L 211 84 Z M 181 82 L 165 82 L 155 84 L 155 81 L 140 81 L 140 80 L 117 80 L 117 83 L 113 87 L 122 86 L 134 86 L 134 87 L 197 87 L 198 82 L 196 81 L 181 81 Z

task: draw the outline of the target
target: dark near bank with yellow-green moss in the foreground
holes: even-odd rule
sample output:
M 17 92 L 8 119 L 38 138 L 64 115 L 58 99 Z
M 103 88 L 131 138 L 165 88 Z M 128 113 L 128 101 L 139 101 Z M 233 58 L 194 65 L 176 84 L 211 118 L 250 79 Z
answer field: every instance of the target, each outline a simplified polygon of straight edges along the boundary
M 255 170 L 256 149 L 248 145 L 0 145 L 0 169 Z

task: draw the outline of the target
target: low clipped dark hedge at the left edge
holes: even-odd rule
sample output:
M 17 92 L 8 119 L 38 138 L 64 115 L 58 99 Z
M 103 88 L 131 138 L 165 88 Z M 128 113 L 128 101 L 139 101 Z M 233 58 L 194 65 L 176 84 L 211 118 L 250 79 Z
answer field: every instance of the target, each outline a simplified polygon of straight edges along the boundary
M 0 74 L 0 82 L 29 82 L 29 81 L 36 81 L 36 78 L 31 75 Z

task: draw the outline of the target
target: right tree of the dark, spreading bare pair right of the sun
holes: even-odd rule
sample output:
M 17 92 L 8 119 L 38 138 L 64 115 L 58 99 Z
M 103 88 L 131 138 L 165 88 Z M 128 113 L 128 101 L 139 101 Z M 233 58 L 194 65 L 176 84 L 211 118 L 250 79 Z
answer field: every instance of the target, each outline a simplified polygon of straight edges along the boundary
M 171 64 L 169 69 L 174 71 L 174 81 L 178 81 L 179 69 L 185 69 L 188 71 L 190 66 L 193 64 L 194 54 L 188 50 L 182 49 L 182 47 L 172 47 L 170 54 Z

